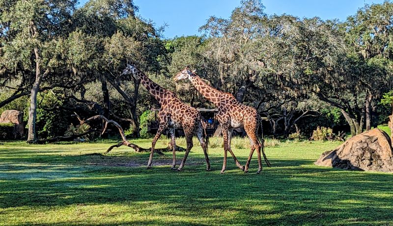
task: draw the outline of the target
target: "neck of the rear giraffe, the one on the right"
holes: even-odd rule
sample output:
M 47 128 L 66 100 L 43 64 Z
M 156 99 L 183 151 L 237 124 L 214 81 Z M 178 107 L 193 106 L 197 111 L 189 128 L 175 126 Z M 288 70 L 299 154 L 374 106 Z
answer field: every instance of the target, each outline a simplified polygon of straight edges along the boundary
M 199 93 L 202 94 L 203 97 L 205 97 L 210 102 L 213 102 L 214 105 L 216 105 L 217 107 L 221 104 L 221 100 L 225 98 L 225 96 L 227 95 L 226 93 L 221 92 L 206 84 L 196 74 L 190 76 L 190 81 L 194 85 L 194 87 L 199 91 Z

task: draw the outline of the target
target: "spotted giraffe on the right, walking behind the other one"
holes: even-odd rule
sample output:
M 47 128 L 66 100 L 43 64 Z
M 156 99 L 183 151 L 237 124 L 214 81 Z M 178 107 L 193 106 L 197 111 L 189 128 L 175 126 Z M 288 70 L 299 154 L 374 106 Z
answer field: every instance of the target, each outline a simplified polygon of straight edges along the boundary
M 258 129 L 258 124 L 260 124 L 260 118 L 255 110 L 255 108 L 246 106 L 236 100 L 236 98 L 230 94 L 221 92 L 209 85 L 207 85 L 202 79 L 195 73 L 195 71 L 190 71 L 189 66 L 177 73 L 174 77 L 174 81 L 189 79 L 195 88 L 202 94 L 207 100 L 211 101 L 218 108 L 217 119 L 223 129 L 224 138 L 224 162 L 223 169 L 221 173 L 224 174 L 226 169 L 226 157 L 227 151 L 230 152 L 237 167 L 248 173 L 251 158 L 253 157 L 253 152 L 257 150 L 258 154 L 258 164 L 259 168 L 256 172 L 260 174 L 262 171 L 262 161 L 261 161 L 261 151 L 266 164 L 270 167 L 270 163 L 266 158 L 265 152 L 263 151 L 263 139 L 262 143 L 258 141 L 256 136 L 256 131 Z M 246 165 L 242 166 L 233 151 L 230 148 L 231 135 L 233 128 L 244 127 L 247 135 L 251 141 L 251 151 L 247 159 Z

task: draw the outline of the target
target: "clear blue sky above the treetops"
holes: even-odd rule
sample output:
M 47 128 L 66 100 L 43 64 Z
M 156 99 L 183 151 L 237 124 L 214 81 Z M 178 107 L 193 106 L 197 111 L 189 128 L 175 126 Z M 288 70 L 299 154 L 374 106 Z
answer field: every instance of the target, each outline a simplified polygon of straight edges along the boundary
M 84 4 L 87 0 L 80 0 Z M 324 20 L 345 20 L 356 13 L 365 3 L 382 3 L 383 0 L 262 0 L 265 12 L 291 14 L 303 17 L 318 16 Z M 240 5 L 240 0 L 134 0 L 139 6 L 138 14 L 151 19 L 156 26 L 166 23 L 164 36 L 200 34 L 198 28 L 210 16 L 227 18 Z

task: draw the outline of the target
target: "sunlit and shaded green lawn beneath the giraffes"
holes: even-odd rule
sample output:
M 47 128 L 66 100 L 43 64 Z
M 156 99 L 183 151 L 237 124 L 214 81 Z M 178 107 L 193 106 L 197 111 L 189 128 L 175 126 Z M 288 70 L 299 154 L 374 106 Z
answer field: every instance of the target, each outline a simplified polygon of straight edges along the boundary
M 205 172 L 195 147 L 177 173 L 169 169 L 171 153 L 155 156 L 146 170 L 148 153 L 122 147 L 101 155 L 109 145 L 0 145 L 0 225 L 393 224 L 392 174 L 313 165 L 337 142 L 266 148 L 273 167 L 261 175 L 256 153 L 249 174 L 228 154 L 220 175 L 222 148 L 209 149 L 213 171 Z M 249 150 L 234 152 L 245 163 Z M 178 164 L 182 156 L 177 152 Z

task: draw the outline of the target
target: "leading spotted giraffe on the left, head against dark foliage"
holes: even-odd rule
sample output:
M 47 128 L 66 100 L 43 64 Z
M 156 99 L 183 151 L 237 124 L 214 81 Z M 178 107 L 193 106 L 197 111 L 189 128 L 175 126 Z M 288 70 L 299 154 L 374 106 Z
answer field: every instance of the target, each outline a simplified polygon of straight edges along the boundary
M 202 119 L 200 113 L 194 107 L 183 103 L 179 100 L 174 93 L 166 90 L 153 82 L 145 74 L 143 74 L 136 67 L 127 64 L 127 67 L 123 70 L 121 75 L 132 75 L 136 79 L 140 79 L 141 84 L 147 89 L 147 91 L 160 103 L 161 110 L 158 113 L 159 127 L 157 134 L 154 136 L 151 143 L 151 152 L 149 161 L 147 163 L 147 169 L 151 168 L 154 148 L 158 138 L 160 138 L 162 132 L 168 128 L 173 145 L 173 157 L 172 157 L 172 170 L 176 170 L 176 153 L 175 153 L 175 135 L 174 127 L 182 126 L 187 141 L 187 149 L 185 151 L 183 160 L 177 168 L 177 171 L 181 171 L 186 163 L 187 156 L 193 148 L 193 136 L 197 136 L 200 146 L 203 149 L 203 153 L 206 159 L 206 171 L 210 171 L 210 162 L 207 155 L 207 135 L 202 127 Z M 206 142 L 205 142 L 206 139 Z

